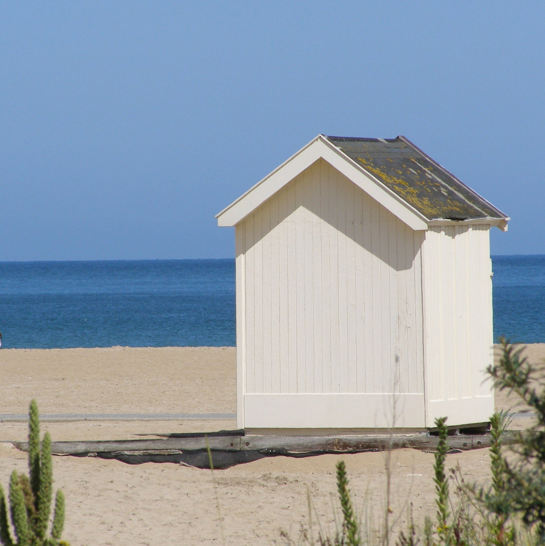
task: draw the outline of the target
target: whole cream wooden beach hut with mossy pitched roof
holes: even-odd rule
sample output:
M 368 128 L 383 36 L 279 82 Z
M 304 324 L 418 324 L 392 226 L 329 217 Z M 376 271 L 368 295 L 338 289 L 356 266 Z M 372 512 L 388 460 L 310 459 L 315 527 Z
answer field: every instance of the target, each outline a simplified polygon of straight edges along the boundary
M 239 428 L 488 422 L 489 231 L 510 218 L 408 139 L 318 135 L 217 218 L 236 229 Z

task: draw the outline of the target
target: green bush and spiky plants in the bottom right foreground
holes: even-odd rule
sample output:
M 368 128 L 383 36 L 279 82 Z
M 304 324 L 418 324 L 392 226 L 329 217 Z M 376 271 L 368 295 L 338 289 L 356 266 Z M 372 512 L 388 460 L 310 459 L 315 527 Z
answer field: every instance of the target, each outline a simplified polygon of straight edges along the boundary
M 539 386 L 543 371 L 523 358 L 523 349 L 516 349 L 505 340 L 502 357 L 487 370 L 494 386 L 515 393 L 532 412 L 535 424 L 521 432 L 513 432 L 514 447 L 506 452 L 502 437 L 509 425 L 508 414 L 495 413 L 490 418 L 490 471 L 492 483 L 466 483 L 459 469 L 445 471 L 448 453 L 446 418 L 437 419 L 438 447 L 434 461 L 435 519 L 426 518 L 422 529 L 414 525 L 391 536 L 387 524 L 388 511 L 381 537 L 369 541 L 361 518 L 356 515 L 348 488 L 344 462 L 337 464 L 337 489 L 342 511 L 342 524 L 333 536 L 319 535 L 303 529 L 289 544 L 319 546 L 533 546 L 545 544 L 545 387 Z M 536 385 L 538 385 L 536 387 Z M 452 496 L 449 485 L 454 486 Z

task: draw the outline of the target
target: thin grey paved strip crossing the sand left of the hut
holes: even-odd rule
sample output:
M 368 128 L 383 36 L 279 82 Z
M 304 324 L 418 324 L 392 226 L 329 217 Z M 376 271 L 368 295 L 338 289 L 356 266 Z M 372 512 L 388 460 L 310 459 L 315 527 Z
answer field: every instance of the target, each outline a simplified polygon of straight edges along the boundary
M 44 423 L 62 421 L 182 421 L 236 419 L 236 413 L 45 413 L 40 415 Z M 25 423 L 28 414 L 0 413 L 0 423 Z

